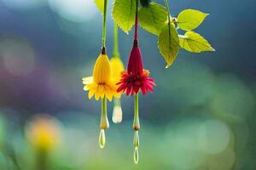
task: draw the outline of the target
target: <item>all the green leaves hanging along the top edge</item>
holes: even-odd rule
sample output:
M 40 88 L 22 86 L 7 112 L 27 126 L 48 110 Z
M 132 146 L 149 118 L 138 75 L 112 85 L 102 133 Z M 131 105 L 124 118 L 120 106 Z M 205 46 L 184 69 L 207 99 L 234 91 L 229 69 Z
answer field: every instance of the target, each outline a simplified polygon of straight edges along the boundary
M 103 0 L 95 0 L 96 6 L 102 11 Z M 166 67 L 172 65 L 180 48 L 192 53 L 214 51 L 211 44 L 194 30 L 201 26 L 207 18 L 206 13 L 195 9 L 184 9 L 177 14 L 177 18 L 170 16 L 166 7 L 150 0 L 140 0 L 139 24 L 144 30 L 158 37 L 160 54 L 166 60 Z M 135 0 L 115 0 L 113 2 L 113 20 L 126 33 L 134 26 Z M 184 35 L 178 35 L 180 29 Z

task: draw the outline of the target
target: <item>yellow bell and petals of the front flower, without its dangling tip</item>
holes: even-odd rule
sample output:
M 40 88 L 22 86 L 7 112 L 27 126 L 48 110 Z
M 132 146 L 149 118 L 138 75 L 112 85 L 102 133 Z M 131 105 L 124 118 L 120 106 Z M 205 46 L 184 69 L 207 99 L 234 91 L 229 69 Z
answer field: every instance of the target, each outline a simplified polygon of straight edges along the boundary
M 117 85 L 113 81 L 112 68 L 107 54 L 100 54 L 94 65 L 93 77 L 84 77 L 84 90 L 89 91 L 88 97 L 91 99 L 95 95 L 98 100 L 106 96 L 109 101 L 112 101 L 113 96 L 120 97 L 116 91 Z

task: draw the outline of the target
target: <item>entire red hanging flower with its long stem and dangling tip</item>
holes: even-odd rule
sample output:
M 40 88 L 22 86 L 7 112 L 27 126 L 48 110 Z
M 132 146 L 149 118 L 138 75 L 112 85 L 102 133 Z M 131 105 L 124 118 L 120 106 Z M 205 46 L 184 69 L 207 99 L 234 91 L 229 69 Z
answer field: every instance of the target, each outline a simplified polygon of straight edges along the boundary
M 153 87 L 156 86 L 154 79 L 149 76 L 149 71 L 143 69 L 143 58 L 141 50 L 137 45 L 137 25 L 138 25 L 138 0 L 136 0 L 136 13 L 135 13 L 135 31 L 134 31 L 134 42 L 131 48 L 131 54 L 129 57 L 127 71 L 123 71 L 121 74 L 120 81 L 117 83 L 119 88 L 117 92 L 126 93 L 126 95 L 135 95 L 134 99 L 134 152 L 133 161 L 137 164 L 139 160 L 139 134 L 140 122 L 139 122 L 139 92 L 143 95 L 148 92 L 153 92 Z

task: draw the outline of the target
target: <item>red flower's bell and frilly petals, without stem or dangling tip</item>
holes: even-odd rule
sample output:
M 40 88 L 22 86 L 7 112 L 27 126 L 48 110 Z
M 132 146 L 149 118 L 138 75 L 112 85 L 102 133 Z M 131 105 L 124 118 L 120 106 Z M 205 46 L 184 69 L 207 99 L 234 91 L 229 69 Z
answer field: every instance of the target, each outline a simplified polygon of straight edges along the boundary
M 134 41 L 131 49 L 127 71 L 123 71 L 120 82 L 117 83 L 118 92 L 126 92 L 126 95 L 137 94 L 139 90 L 143 95 L 153 92 L 153 86 L 156 86 L 154 79 L 148 77 L 149 71 L 143 70 L 143 59 L 140 48 L 137 46 L 137 40 Z

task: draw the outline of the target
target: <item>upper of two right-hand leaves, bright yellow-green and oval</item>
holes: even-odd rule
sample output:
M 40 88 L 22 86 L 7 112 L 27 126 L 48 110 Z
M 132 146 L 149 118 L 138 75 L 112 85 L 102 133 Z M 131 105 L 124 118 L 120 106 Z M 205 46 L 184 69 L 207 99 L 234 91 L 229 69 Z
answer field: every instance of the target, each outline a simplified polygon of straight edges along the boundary
M 184 31 L 191 31 L 201 25 L 208 14 L 195 9 L 185 9 L 177 16 L 177 26 Z

